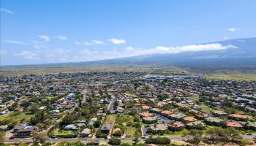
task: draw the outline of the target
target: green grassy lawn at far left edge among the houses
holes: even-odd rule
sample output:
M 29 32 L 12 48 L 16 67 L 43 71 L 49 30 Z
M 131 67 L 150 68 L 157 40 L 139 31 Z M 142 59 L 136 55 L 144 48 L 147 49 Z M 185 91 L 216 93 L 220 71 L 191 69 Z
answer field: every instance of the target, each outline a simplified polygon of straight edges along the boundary
M 0 121 L 10 120 L 11 122 L 20 122 L 20 120 L 25 120 L 28 122 L 32 117 L 34 115 L 30 114 L 30 112 L 10 112 L 7 115 L 0 116 Z

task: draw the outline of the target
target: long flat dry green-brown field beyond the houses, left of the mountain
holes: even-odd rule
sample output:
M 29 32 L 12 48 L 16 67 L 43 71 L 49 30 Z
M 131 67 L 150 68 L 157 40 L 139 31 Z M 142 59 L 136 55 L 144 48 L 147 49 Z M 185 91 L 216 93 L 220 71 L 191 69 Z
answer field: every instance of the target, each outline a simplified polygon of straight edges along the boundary
M 59 72 L 152 72 L 154 70 L 170 70 L 173 72 L 181 71 L 175 66 L 155 66 L 155 65 L 30 65 L 30 66 L 1 66 L 0 75 L 4 76 L 21 76 L 24 74 L 56 74 Z

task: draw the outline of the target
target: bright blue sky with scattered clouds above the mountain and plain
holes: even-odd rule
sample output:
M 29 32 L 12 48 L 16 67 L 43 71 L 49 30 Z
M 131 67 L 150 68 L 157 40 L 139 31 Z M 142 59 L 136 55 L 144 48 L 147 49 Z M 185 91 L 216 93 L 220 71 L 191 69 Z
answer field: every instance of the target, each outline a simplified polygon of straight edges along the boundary
M 255 0 L 0 0 L 1 66 L 222 50 L 256 37 Z

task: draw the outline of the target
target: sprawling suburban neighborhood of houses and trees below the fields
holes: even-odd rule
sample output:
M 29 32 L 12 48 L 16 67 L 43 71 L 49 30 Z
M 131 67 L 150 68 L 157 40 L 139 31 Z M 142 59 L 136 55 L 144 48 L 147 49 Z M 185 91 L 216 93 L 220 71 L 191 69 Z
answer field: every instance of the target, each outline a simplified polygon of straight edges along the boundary
M 195 145 L 255 139 L 253 81 L 119 71 L 0 80 L 4 143 Z

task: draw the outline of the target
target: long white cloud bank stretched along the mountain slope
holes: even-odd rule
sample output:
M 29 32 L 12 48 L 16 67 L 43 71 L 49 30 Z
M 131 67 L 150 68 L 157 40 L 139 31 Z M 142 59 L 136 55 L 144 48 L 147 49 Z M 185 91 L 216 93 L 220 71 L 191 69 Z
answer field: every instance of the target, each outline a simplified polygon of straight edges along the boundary
M 123 57 L 131 57 L 136 55 L 150 55 L 155 53 L 183 53 L 183 52 L 196 52 L 196 51 L 204 51 L 204 50 L 225 50 L 230 48 L 236 48 L 233 45 L 221 45 L 219 43 L 211 43 L 205 45 L 186 45 L 181 47 L 165 47 L 165 46 L 157 46 L 148 49 L 140 49 L 134 47 L 126 47 L 124 50 L 107 50 L 107 51 L 93 51 L 89 49 L 84 49 L 78 51 L 74 55 L 72 59 L 76 61 L 97 61 L 111 58 L 123 58 Z

